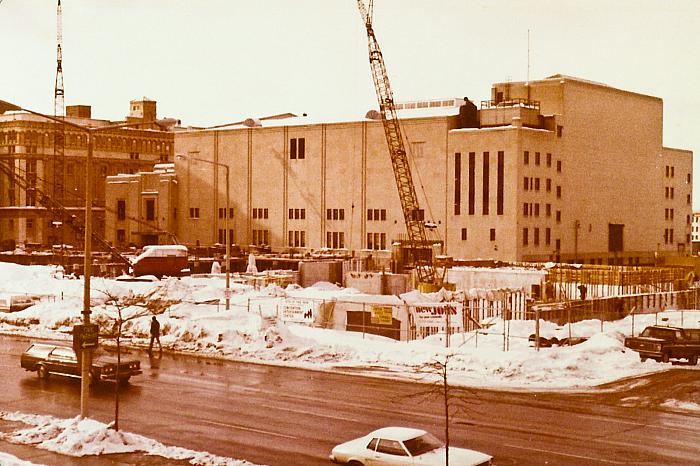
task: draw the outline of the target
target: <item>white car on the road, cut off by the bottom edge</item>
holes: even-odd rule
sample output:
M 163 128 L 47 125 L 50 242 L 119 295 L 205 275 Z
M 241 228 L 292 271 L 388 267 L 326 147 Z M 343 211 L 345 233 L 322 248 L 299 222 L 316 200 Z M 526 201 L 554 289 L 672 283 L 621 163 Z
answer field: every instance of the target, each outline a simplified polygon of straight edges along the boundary
M 447 449 L 434 435 L 421 429 L 384 427 L 333 448 L 330 460 L 351 466 L 445 465 Z M 450 447 L 450 464 L 480 466 L 492 457 L 465 448 Z

